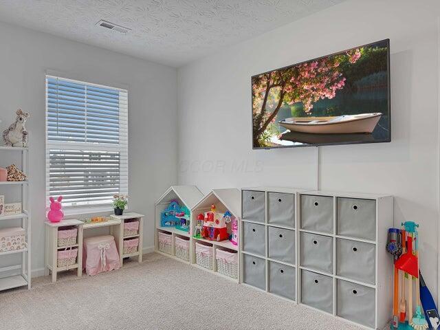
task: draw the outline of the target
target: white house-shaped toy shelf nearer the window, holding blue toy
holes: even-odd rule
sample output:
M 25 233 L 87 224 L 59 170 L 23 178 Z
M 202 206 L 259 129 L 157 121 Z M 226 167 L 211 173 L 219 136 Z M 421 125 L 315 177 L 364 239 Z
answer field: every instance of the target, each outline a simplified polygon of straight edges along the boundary
M 164 256 L 169 256 L 178 261 L 186 262 L 175 256 L 175 238 L 179 236 L 189 238 L 190 233 L 173 227 L 162 227 L 160 225 L 160 214 L 173 200 L 177 200 L 179 205 L 186 206 L 188 210 L 191 210 L 202 197 L 203 194 L 196 186 L 170 186 L 170 188 L 164 192 L 164 195 L 157 199 L 155 203 L 155 251 L 157 253 L 163 254 Z M 190 219 L 190 223 L 192 224 L 192 218 Z M 172 235 L 173 248 L 171 250 L 171 254 L 166 254 L 159 251 L 159 243 L 157 240 L 158 232 L 166 232 Z

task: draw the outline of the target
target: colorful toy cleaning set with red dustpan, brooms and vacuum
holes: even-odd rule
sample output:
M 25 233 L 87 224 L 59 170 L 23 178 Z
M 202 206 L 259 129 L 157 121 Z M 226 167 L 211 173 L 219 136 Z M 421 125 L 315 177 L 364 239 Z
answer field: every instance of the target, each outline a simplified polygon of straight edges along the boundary
M 390 329 L 423 330 L 428 329 L 430 325 L 432 329 L 437 329 L 438 325 L 434 327 L 434 321 L 431 322 L 426 310 L 423 314 L 421 308 L 421 287 L 426 287 L 426 285 L 423 281 L 419 285 L 419 239 L 417 232 L 419 225 L 412 221 L 406 221 L 401 225 L 401 230 L 397 228 L 388 230 L 388 243 L 386 245 L 386 250 L 394 259 L 393 322 Z M 401 272 L 401 276 L 399 276 L 399 272 Z M 399 280 L 401 281 L 400 300 Z M 416 282 L 415 310 L 412 309 L 412 281 Z M 426 290 L 423 289 L 423 298 L 426 298 L 426 304 L 430 306 L 430 314 L 433 316 L 432 320 L 434 320 L 434 313 L 437 313 L 437 308 L 434 304 L 432 306 L 430 301 L 428 302 L 427 296 Z

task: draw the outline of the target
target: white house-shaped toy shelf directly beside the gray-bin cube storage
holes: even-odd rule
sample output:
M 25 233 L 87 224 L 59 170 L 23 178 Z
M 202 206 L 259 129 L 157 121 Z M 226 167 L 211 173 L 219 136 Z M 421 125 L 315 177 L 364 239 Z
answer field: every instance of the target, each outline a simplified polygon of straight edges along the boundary
M 217 212 L 226 212 L 229 211 L 231 214 L 236 217 L 240 221 L 241 212 L 240 212 L 240 190 L 236 188 L 227 188 L 227 189 L 212 189 L 208 195 L 203 197 L 193 208 L 191 208 L 191 217 L 192 219 L 197 219 L 197 215 L 200 213 L 207 212 L 211 209 L 211 205 L 214 204 L 216 206 Z M 191 232 L 194 232 L 195 229 L 195 221 L 191 221 Z M 239 233 L 240 235 L 240 233 Z M 217 272 L 217 259 L 216 252 L 218 249 L 222 250 L 227 248 L 229 250 L 236 251 L 239 253 L 239 246 L 232 244 L 230 241 L 210 241 L 208 239 L 196 239 L 195 237 L 190 238 L 190 263 L 191 265 L 200 268 L 201 270 L 206 270 L 208 272 L 212 272 L 224 278 L 228 278 L 234 282 L 240 283 L 240 258 L 238 256 L 238 264 L 237 264 L 237 278 L 230 278 L 228 276 L 223 276 Z M 212 270 L 208 270 L 207 268 L 201 267 L 196 263 L 196 253 L 195 253 L 195 243 L 197 241 L 202 241 L 208 243 L 212 247 Z

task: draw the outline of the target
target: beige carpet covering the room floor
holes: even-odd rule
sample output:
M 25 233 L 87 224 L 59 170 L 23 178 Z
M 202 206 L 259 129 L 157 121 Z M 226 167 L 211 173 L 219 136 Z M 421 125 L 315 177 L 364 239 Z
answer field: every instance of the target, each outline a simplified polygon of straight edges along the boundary
M 0 329 L 360 329 L 159 254 L 0 293 Z

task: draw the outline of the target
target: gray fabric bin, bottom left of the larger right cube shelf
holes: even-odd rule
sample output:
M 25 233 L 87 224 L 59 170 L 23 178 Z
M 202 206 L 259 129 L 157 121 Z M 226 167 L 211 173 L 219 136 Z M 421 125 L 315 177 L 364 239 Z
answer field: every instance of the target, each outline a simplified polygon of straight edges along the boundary
M 307 270 L 301 274 L 301 303 L 333 313 L 333 278 Z

